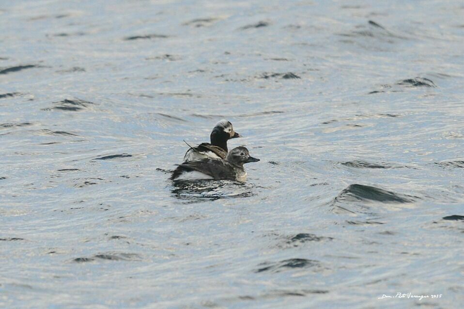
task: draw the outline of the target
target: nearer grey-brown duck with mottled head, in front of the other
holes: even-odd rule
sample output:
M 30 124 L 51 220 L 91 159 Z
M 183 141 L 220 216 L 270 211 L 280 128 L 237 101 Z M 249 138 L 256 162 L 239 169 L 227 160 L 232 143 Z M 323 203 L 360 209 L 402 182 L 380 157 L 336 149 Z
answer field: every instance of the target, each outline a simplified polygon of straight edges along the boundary
M 204 158 L 179 164 L 170 177 L 173 181 L 184 180 L 235 180 L 245 182 L 247 172 L 245 163 L 258 162 L 260 159 L 250 156 L 244 146 L 233 148 L 225 159 Z

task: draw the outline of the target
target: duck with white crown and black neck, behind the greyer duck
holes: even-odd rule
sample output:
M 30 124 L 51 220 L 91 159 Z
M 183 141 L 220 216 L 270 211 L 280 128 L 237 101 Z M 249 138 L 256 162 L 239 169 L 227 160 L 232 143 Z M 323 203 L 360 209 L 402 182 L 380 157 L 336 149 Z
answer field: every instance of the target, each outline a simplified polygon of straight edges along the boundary
M 233 130 L 232 123 L 225 119 L 215 124 L 211 131 L 211 143 L 201 143 L 196 147 L 190 147 L 184 155 L 184 162 L 201 159 L 225 159 L 227 156 L 227 141 L 241 138 L 242 136 Z

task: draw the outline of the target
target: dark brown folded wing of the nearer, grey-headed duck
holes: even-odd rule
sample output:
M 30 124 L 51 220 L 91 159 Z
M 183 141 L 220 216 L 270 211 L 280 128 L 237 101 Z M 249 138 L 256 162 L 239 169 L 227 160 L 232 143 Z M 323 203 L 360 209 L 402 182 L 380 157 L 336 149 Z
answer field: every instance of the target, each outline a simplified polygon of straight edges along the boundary
M 198 161 L 189 161 L 179 164 L 172 173 L 171 179 L 175 180 L 185 171 L 199 171 L 214 179 L 229 179 L 235 180 L 236 173 L 232 166 L 222 160 L 217 159 L 202 159 Z

